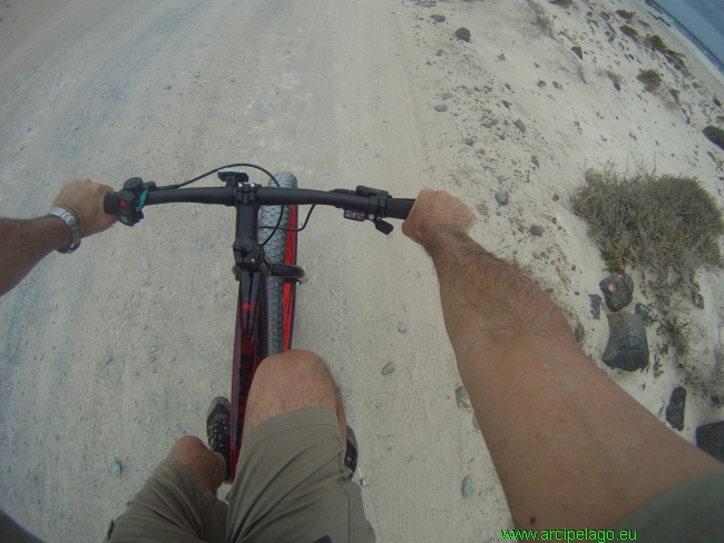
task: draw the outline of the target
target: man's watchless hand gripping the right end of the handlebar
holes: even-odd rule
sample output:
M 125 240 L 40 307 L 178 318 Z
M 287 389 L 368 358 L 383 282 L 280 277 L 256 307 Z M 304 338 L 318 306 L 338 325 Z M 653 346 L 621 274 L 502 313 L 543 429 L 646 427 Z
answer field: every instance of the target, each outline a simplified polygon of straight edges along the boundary
M 408 219 L 402 223 L 402 234 L 429 250 L 436 236 L 443 231 L 468 235 L 476 216 L 460 198 L 447 190 L 423 188 L 418 195 Z

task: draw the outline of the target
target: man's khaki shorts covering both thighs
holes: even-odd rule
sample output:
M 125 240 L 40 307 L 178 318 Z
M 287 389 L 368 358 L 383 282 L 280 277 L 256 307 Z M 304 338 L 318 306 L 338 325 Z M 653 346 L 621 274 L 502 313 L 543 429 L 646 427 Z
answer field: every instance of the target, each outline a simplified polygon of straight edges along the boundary
M 272 417 L 246 436 L 228 504 L 186 466 L 165 460 L 105 541 L 374 541 L 360 487 L 344 474 L 343 453 L 330 409 Z

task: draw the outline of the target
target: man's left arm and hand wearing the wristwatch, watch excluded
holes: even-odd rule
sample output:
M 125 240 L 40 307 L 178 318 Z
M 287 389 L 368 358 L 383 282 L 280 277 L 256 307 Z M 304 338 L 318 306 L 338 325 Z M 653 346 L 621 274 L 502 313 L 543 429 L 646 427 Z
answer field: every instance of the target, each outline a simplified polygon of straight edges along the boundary
M 72 213 L 80 223 L 81 237 L 88 237 L 109 228 L 117 219 L 104 211 L 107 194 L 112 194 L 110 187 L 79 179 L 65 185 L 52 206 Z M 0 218 L 0 296 L 10 292 L 49 253 L 67 247 L 70 241 L 70 229 L 58 217 Z

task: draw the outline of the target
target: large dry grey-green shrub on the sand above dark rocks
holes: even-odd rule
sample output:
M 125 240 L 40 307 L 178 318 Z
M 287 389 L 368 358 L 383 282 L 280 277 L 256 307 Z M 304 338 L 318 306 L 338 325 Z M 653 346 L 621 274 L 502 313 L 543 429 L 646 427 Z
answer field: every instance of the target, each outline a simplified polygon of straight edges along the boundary
M 571 203 L 590 225 L 608 269 L 638 268 L 662 314 L 663 333 L 678 354 L 688 351 L 687 323 L 678 300 L 693 293 L 702 266 L 724 267 L 718 240 L 724 219 L 716 200 L 693 178 L 638 168 L 633 177 L 608 166 L 588 170 Z

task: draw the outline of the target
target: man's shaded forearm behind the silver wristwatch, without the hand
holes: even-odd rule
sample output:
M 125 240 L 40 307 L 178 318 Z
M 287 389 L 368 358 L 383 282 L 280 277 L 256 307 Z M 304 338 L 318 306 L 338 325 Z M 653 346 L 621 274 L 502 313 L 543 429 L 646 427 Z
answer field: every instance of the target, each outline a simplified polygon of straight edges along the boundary
M 0 296 L 20 283 L 46 255 L 71 240 L 68 225 L 57 217 L 0 218 Z

